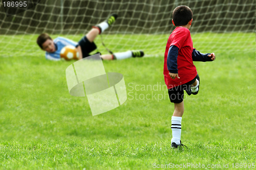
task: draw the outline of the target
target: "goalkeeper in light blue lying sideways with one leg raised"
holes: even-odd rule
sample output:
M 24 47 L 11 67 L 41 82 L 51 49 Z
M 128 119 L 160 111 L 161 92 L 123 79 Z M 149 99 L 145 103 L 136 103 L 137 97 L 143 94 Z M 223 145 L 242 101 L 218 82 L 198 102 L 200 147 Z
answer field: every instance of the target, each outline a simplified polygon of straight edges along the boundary
M 108 19 L 104 20 L 96 26 L 93 26 L 89 33 L 84 36 L 78 43 L 63 37 L 58 37 L 53 40 L 46 33 L 39 35 L 36 42 L 41 50 L 46 52 L 46 59 L 48 60 L 60 60 L 60 51 L 63 47 L 67 45 L 75 46 L 79 53 L 79 59 L 82 59 L 90 56 L 90 53 L 96 50 L 97 46 L 93 42 L 94 39 L 97 37 L 97 35 L 103 33 L 106 29 L 108 29 L 116 19 L 117 14 L 111 14 Z M 103 60 L 121 60 L 131 57 L 143 56 L 143 51 L 127 51 L 122 53 L 101 55 L 101 58 Z

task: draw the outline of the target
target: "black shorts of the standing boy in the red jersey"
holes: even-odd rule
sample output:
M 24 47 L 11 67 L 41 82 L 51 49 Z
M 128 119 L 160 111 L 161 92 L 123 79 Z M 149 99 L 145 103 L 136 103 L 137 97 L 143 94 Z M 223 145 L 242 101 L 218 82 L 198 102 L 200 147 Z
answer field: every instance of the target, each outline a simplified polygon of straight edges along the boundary
M 188 95 L 191 95 L 190 85 L 195 83 L 196 79 L 200 80 L 199 75 L 197 75 L 193 80 L 185 84 L 168 89 L 170 102 L 181 103 L 184 99 L 184 90 L 187 92 Z

